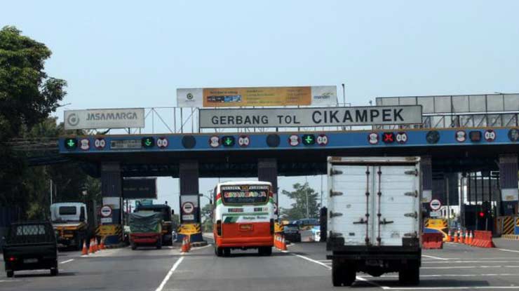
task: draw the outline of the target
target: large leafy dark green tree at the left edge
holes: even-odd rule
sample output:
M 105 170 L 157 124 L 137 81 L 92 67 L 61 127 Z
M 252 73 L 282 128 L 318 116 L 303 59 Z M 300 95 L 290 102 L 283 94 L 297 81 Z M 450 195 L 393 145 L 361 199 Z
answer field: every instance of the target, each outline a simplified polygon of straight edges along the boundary
M 45 121 L 65 97 L 66 82 L 49 77 L 44 69 L 50 50 L 15 27 L 0 30 L 0 205 L 29 207 L 45 187 L 45 169 L 27 168 L 27 154 L 6 143 L 23 137 Z M 55 125 L 55 121 L 54 121 Z M 48 187 L 46 187 L 48 189 Z M 28 209 L 29 208 L 29 209 Z

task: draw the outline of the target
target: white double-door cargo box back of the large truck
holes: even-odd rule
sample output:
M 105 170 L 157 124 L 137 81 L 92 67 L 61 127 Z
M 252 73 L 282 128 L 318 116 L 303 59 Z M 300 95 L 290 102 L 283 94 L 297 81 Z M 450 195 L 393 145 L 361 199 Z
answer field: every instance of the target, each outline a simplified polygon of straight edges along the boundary
M 419 234 L 419 158 L 328 163 L 328 231 L 345 245 L 403 245 Z

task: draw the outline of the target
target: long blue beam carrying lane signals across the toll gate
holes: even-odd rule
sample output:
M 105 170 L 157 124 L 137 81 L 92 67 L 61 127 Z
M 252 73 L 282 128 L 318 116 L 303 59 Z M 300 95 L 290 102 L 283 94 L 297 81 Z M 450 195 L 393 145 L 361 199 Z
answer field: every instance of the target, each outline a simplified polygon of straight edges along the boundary
M 393 135 L 391 135 L 393 133 Z M 480 141 L 471 140 L 470 135 L 480 135 Z M 277 135 L 279 144 L 273 147 L 267 144 L 269 135 Z M 296 135 L 298 138 L 292 137 Z M 305 145 L 302 142 L 304 135 L 325 136 L 327 143 Z M 464 135 L 465 139 L 461 138 Z M 192 148 L 182 144 L 182 138 L 191 136 L 196 144 Z M 226 136 L 234 137 L 232 147 L 224 147 L 222 140 Z M 248 145 L 240 146 L 238 139 L 248 137 Z M 405 137 L 404 137 L 405 136 Z M 144 137 L 153 137 L 154 141 L 149 148 L 140 149 L 112 149 L 112 142 L 119 140 L 136 140 L 141 142 Z M 319 141 L 323 141 L 323 137 Z M 393 142 L 384 142 L 393 140 Z M 67 149 L 67 138 L 74 138 L 78 145 L 74 149 Z M 211 139 L 213 138 L 213 146 Z M 97 139 L 97 141 L 96 141 Z M 214 142 L 219 139 L 220 142 Z M 166 140 L 166 142 L 164 142 Z M 292 144 L 291 141 L 292 140 Z M 294 141 L 295 140 L 295 141 Z M 462 128 L 462 129 L 420 129 L 420 130 L 381 130 L 381 131 L 351 131 L 351 132 L 308 132 L 308 133 L 220 133 L 215 134 L 175 134 L 175 135 L 104 135 L 104 136 L 67 136 L 60 137 L 60 154 L 93 154 L 93 153 L 142 153 L 160 151 L 257 151 L 257 150 L 295 150 L 295 149 L 369 149 L 395 147 L 460 147 L 484 146 L 492 144 L 518 144 L 519 130 L 517 128 Z M 185 140 L 184 140 L 185 141 Z M 299 143 L 298 143 L 299 142 Z M 166 145 L 167 143 L 167 145 Z M 103 145 L 104 147 L 100 147 Z M 97 147 L 95 147 L 97 145 Z

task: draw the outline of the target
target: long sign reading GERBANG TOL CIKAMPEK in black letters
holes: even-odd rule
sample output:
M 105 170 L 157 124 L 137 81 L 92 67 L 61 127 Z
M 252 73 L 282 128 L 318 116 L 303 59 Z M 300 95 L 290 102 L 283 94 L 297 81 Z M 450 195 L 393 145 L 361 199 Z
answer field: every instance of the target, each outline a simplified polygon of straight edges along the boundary
M 200 109 L 201 128 L 374 126 L 422 123 L 422 106 Z

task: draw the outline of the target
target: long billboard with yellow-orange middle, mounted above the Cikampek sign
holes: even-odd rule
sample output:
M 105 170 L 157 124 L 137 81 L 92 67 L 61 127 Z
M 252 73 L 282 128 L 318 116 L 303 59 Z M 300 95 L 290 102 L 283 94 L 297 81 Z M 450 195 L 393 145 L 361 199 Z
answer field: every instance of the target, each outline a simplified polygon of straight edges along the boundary
M 337 86 L 180 88 L 178 107 L 281 107 L 337 104 Z

